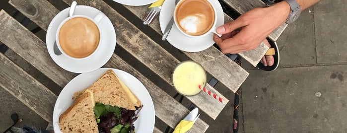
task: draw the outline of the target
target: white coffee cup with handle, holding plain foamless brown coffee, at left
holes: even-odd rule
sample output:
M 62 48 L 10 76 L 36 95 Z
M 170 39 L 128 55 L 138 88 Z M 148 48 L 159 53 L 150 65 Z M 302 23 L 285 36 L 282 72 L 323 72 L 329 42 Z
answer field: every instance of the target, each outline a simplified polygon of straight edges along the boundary
M 89 54 L 88 56 L 86 56 L 86 57 L 81 57 L 81 58 L 79 58 L 79 57 L 72 57 L 72 56 L 70 56 L 69 54 L 67 54 L 67 53 L 62 49 L 62 47 L 61 47 L 61 42 L 60 42 L 60 40 L 59 40 L 59 33 L 61 32 L 62 26 L 63 26 L 67 21 L 69 21 L 70 19 L 76 18 L 76 17 L 86 18 L 86 19 L 90 20 L 91 22 L 93 22 L 93 23 L 96 25 L 96 27 L 97 27 L 97 29 L 98 29 L 98 31 L 99 31 L 99 34 L 98 34 L 98 35 L 99 35 L 99 42 L 97 43 L 96 49 L 95 49 L 91 54 Z M 59 27 L 58 27 L 58 30 L 57 30 L 57 34 L 56 34 L 57 46 L 58 46 L 59 50 L 62 52 L 62 54 L 64 54 L 65 56 L 67 56 L 67 57 L 69 57 L 69 58 L 71 58 L 71 59 L 74 59 L 74 60 L 87 59 L 87 58 L 93 56 L 93 55 L 98 51 L 98 49 L 99 49 L 99 47 L 100 47 L 100 45 L 101 45 L 101 41 L 102 41 L 102 35 L 101 35 L 101 34 L 102 34 L 102 33 L 101 33 L 101 31 L 100 31 L 100 24 L 103 22 L 104 18 L 106 18 L 106 15 L 105 15 L 104 13 L 100 12 L 100 13 L 97 14 L 94 18 L 90 18 L 90 17 L 85 16 L 85 15 L 72 15 L 72 16 L 70 16 L 70 17 L 64 19 L 64 20 L 60 23 L 60 25 L 59 25 Z M 73 28 L 73 27 L 72 27 L 72 28 Z

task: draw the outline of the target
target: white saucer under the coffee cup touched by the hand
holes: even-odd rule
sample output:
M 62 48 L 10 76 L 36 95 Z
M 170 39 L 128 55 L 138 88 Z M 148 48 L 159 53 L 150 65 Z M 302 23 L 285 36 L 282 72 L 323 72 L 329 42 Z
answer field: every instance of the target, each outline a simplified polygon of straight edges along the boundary
M 217 12 L 217 22 L 216 26 L 220 26 L 224 24 L 224 12 L 222 6 L 218 2 L 218 0 L 210 0 L 214 5 Z M 173 12 L 175 9 L 175 0 L 165 0 L 159 15 L 159 24 L 161 32 L 164 32 L 167 24 L 169 23 L 171 17 L 173 16 Z M 182 34 L 178 29 L 175 23 L 173 24 L 169 35 L 166 40 L 182 51 L 186 52 L 199 52 L 206 50 L 210 46 L 214 44 L 213 34 L 206 35 L 201 38 L 191 38 Z

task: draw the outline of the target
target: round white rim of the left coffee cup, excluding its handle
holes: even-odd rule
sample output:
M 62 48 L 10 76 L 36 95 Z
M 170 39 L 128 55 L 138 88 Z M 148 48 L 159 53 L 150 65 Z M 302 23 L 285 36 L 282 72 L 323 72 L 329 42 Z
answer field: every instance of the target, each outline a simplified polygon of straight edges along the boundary
M 68 20 L 70 20 L 70 19 L 72 19 L 72 18 L 75 18 L 75 17 L 83 17 L 83 18 L 89 19 L 90 21 L 92 21 L 92 22 L 96 25 L 96 27 L 98 28 L 98 31 L 99 31 L 99 43 L 98 43 L 98 46 L 96 47 L 96 49 L 94 50 L 93 53 L 91 53 L 89 56 L 83 57 L 83 58 L 75 58 L 75 57 L 69 56 L 68 54 L 66 54 L 66 53 L 63 51 L 63 49 L 62 49 L 62 47 L 60 46 L 60 43 L 59 43 L 59 32 L 60 32 L 60 29 L 62 28 L 62 26 L 63 26 Z M 65 56 L 67 56 L 67 57 L 69 57 L 69 58 L 71 58 L 71 59 L 74 59 L 74 60 L 83 60 L 83 59 L 87 59 L 87 58 L 93 56 L 93 55 L 98 51 L 98 49 L 100 48 L 101 40 L 102 40 L 102 35 L 101 35 L 101 31 L 100 31 L 100 26 L 98 25 L 98 23 L 95 22 L 94 19 L 92 19 L 92 18 L 90 18 L 90 17 L 88 17 L 88 16 L 85 16 L 85 15 L 72 15 L 72 16 L 70 16 L 70 17 L 64 19 L 63 22 L 61 22 L 61 23 L 59 24 L 58 29 L 57 29 L 57 34 L 56 34 L 56 42 L 57 42 L 57 46 L 58 46 L 58 49 L 60 50 L 60 52 L 62 52 Z

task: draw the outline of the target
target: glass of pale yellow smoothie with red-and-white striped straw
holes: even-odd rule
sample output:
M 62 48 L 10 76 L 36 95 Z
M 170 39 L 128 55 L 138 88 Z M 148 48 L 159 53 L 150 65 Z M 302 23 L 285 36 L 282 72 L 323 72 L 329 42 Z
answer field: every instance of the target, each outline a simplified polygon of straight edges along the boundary
M 172 85 L 178 93 L 184 96 L 198 94 L 201 87 L 205 87 L 207 74 L 205 69 L 194 61 L 184 61 L 177 65 L 172 72 Z

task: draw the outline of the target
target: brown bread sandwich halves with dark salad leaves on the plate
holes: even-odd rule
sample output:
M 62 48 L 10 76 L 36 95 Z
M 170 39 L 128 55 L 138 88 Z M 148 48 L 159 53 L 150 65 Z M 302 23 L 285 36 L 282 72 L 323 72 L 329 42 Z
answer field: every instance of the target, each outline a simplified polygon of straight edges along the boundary
M 87 94 L 88 96 L 86 96 Z M 86 98 L 89 101 L 81 100 Z M 142 107 L 140 100 L 113 70 L 107 70 L 85 90 L 75 92 L 72 99 L 75 100 L 74 103 L 59 119 L 59 126 L 64 133 L 74 131 L 79 133 L 119 133 L 121 131 L 122 133 L 133 133 L 135 129 L 133 123 L 137 120 L 135 112 L 138 110 L 137 113 L 139 113 Z M 86 107 L 82 107 L 83 105 Z M 79 113 L 76 113 L 79 106 L 88 114 L 80 116 Z M 72 108 L 76 109 L 72 110 Z M 82 131 L 81 127 L 85 126 L 75 126 L 81 122 L 86 123 L 85 126 L 88 128 L 84 128 Z

